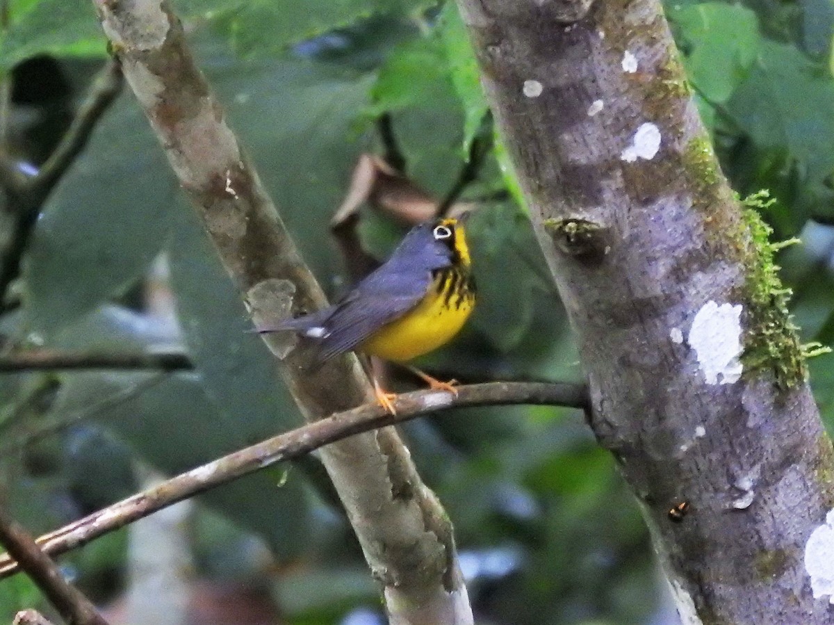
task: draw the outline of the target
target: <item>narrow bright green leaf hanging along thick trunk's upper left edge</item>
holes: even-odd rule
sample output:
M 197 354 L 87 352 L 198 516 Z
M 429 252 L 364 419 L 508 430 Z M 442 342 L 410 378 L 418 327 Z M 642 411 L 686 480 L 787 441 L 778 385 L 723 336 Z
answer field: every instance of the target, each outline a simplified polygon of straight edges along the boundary
M 466 26 L 455 3 L 446 3 L 438 23 L 440 38 L 445 45 L 446 63 L 455 91 L 464 108 L 463 154 L 469 155 L 472 140 L 478 134 L 481 121 L 490 107 L 480 86 L 480 73 Z

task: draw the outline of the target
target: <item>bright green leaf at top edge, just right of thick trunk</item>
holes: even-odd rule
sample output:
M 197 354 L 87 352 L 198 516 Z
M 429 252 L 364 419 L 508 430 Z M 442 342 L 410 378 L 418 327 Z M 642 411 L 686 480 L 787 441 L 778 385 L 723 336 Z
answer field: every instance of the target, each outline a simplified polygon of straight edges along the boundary
M 761 35 L 756 13 L 738 5 L 701 3 L 672 8 L 687 73 L 711 103 L 723 103 L 744 81 L 756 60 Z

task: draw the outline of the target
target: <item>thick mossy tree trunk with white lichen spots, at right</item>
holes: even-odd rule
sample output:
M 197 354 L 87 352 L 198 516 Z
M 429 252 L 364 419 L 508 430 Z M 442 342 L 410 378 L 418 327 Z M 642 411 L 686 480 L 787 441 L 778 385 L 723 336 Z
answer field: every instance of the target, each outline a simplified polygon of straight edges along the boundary
M 834 622 L 804 562 L 834 505 L 831 441 L 774 248 L 718 169 L 660 5 L 459 5 L 578 337 L 591 426 L 684 622 Z

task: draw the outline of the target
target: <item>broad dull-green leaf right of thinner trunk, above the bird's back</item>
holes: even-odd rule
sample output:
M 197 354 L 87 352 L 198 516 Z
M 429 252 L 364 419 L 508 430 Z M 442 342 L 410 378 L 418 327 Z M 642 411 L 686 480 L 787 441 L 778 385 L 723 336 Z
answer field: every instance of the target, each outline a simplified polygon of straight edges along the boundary
M 244 66 L 214 59 L 207 74 L 304 260 L 328 290 L 340 271 L 329 220 L 366 147 L 354 124 L 371 78 L 324 63 L 269 59 Z

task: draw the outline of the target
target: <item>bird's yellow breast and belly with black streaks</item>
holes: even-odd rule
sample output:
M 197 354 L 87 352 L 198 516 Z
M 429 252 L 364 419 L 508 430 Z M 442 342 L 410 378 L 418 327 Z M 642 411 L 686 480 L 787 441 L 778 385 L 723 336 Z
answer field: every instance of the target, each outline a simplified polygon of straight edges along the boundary
M 429 292 L 412 310 L 384 325 L 359 346 L 365 354 L 403 362 L 428 354 L 455 336 L 475 306 L 469 272 L 440 272 Z

